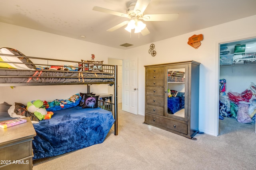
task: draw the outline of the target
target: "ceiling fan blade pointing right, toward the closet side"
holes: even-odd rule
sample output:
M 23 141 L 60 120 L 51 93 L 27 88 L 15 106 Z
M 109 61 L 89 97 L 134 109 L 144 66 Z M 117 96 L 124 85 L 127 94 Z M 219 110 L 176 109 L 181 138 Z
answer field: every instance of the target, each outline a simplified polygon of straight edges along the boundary
M 148 14 L 143 16 L 144 21 L 173 21 L 179 14 Z

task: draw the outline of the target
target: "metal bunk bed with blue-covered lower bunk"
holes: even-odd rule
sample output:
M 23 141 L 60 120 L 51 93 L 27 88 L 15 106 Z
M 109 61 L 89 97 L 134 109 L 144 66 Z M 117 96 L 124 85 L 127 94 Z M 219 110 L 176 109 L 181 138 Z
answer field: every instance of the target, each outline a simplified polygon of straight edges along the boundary
M 73 84 L 87 84 L 87 93 L 92 84 L 114 86 L 114 102 L 99 100 L 97 108 L 56 110 L 51 119 L 33 124 L 37 134 L 32 142 L 33 160 L 102 143 L 113 124 L 114 135 L 118 135 L 117 66 L 0 54 L 0 86 Z

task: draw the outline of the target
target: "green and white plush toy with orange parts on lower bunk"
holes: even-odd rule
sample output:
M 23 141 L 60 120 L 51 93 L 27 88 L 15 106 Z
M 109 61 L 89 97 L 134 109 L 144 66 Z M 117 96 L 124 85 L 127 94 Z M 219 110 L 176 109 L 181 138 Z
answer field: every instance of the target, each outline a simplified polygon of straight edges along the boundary
M 53 112 L 52 111 L 46 111 L 45 108 L 41 108 L 43 105 L 44 105 L 44 102 L 42 102 L 42 100 L 36 100 L 33 103 L 28 102 L 27 110 L 30 113 L 34 113 L 34 115 L 36 115 L 36 117 L 39 120 L 52 118 Z

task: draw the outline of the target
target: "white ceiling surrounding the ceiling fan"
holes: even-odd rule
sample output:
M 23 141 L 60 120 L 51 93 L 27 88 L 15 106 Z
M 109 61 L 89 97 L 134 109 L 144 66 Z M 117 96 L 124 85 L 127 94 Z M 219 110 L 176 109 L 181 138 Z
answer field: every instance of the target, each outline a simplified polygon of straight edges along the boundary
M 150 34 L 107 29 L 127 18 L 92 10 L 100 6 L 126 13 L 136 0 L 0 0 L 0 22 L 63 35 L 119 49 L 130 49 L 166 38 L 256 15 L 256 0 L 151 0 L 144 14 L 175 14 L 175 21 L 143 21 Z M 84 35 L 85 38 L 82 38 Z M 191 35 L 192 36 L 192 35 Z M 130 47 L 120 46 L 133 44 Z

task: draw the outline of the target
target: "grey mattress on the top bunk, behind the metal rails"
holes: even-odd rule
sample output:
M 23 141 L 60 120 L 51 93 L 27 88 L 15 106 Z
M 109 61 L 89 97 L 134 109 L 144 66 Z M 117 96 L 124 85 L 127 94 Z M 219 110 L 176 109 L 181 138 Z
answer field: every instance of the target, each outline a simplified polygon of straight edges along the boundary
M 64 70 L 0 69 L 0 83 L 92 83 L 114 82 L 112 74 Z

